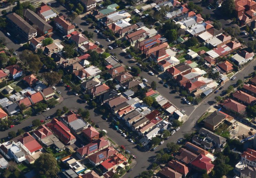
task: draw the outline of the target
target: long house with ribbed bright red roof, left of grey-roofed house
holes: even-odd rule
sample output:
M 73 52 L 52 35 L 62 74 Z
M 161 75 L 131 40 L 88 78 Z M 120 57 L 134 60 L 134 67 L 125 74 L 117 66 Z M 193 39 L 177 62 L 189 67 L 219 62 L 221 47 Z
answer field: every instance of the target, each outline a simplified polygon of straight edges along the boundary
M 46 124 L 48 128 L 64 143 L 73 144 L 76 141 L 75 136 L 70 132 L 61 121 L 53 119 L 50 123 Z

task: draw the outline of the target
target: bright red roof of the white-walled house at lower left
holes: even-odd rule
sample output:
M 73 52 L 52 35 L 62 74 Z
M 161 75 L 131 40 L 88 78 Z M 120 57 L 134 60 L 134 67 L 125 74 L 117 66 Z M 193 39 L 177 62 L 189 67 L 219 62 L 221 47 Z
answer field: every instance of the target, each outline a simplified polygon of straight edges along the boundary
M 21 142 L 31 153 L 43 148 L 28 132 L 18 140 Z

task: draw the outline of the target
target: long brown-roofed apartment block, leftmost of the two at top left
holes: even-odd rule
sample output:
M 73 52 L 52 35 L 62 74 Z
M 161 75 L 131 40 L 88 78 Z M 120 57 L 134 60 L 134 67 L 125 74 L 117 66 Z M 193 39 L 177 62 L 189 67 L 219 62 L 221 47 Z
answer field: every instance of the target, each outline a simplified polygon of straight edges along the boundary
M 17 31 L 18 34 L 30 40 L 37 35 L 37 30 L 34 29 L 28 22 L 21 18 L 16 13 L 6 15 L 10 25 Z

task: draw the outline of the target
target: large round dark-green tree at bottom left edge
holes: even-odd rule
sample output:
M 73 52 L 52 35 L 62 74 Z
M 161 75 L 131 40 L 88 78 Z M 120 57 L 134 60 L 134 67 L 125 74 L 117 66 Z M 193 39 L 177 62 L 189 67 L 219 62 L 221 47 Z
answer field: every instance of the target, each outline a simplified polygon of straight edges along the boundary
M 38 175 L 55 178 L 60 171 L 56 158 L 49 153 L 43 153 L 35 160 L 35 171 Z

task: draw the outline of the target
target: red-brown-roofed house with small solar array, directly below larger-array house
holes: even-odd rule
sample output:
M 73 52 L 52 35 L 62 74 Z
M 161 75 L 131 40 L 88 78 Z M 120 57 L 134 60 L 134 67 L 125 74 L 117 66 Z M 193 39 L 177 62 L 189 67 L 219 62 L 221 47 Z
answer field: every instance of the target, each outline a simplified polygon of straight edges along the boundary
M 88 156 L 88 160 L 93 166 L 97 166 L 114 154 L 118 154 L 118 152 L 113 147 L 108 147 Z

